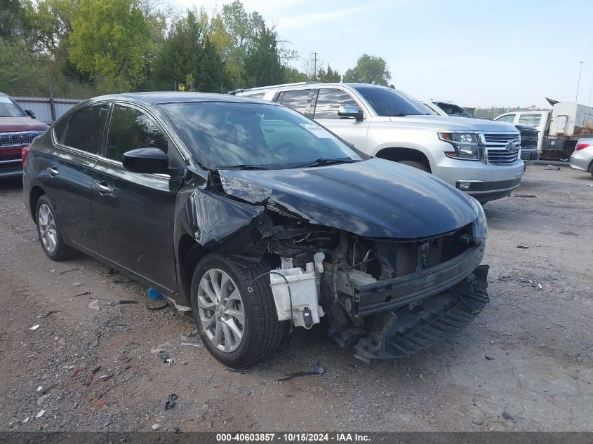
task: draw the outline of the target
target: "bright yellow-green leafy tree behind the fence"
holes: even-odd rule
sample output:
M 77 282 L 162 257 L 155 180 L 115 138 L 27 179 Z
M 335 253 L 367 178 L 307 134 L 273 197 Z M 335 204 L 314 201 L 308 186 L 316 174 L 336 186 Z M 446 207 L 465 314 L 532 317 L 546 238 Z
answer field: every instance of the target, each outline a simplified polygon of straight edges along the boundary
M 80 0 L 69 33 L 69 58 L 110 89 L 142 81 L 151 29 L 138 0 Z

